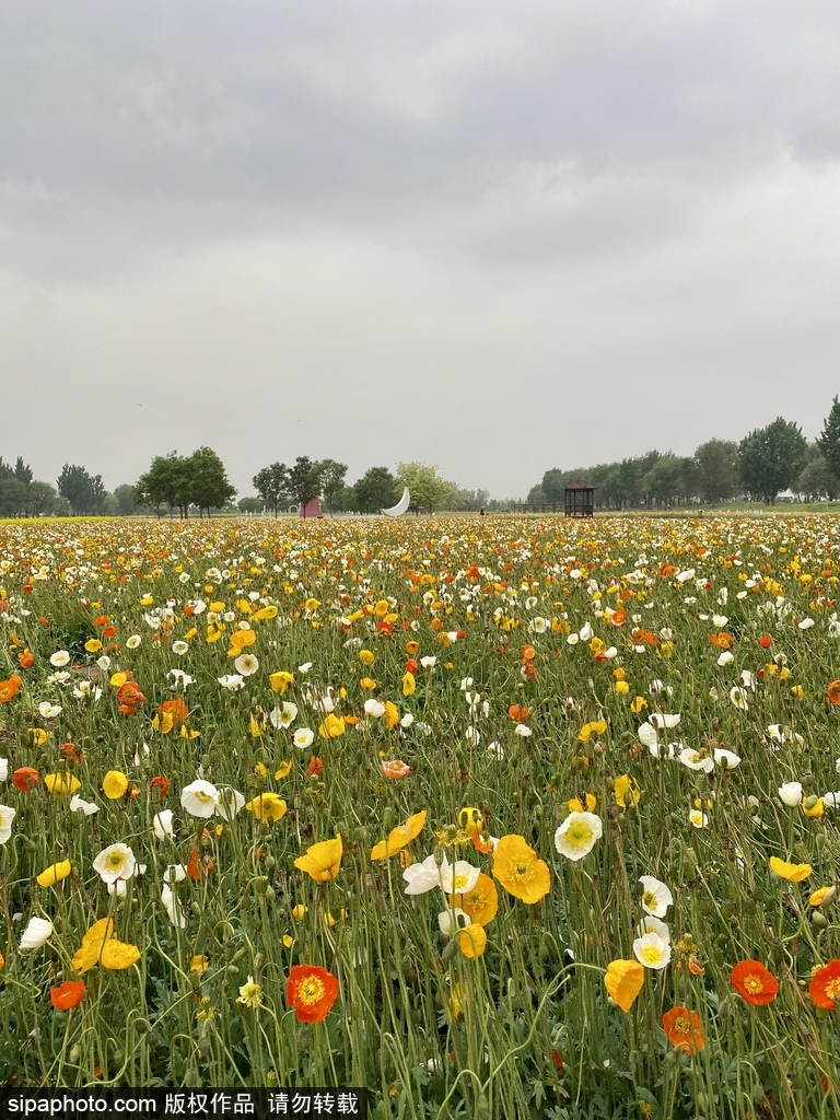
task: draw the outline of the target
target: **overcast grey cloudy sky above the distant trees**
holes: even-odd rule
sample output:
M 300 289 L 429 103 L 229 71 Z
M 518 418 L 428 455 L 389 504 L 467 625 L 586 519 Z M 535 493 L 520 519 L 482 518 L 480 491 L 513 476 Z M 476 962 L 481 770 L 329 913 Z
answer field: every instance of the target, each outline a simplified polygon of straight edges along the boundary
M 836 0 L 0 0 L 0 454 L 516 496 L 840 392 Z

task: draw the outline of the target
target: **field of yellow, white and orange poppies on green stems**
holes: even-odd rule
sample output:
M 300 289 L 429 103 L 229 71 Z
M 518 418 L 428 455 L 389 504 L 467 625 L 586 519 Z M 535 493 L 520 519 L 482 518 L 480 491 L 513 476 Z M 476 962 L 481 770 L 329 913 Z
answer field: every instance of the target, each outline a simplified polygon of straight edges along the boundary
M 840 1113 L 840 520 L 0 542 L 0 1082 Z

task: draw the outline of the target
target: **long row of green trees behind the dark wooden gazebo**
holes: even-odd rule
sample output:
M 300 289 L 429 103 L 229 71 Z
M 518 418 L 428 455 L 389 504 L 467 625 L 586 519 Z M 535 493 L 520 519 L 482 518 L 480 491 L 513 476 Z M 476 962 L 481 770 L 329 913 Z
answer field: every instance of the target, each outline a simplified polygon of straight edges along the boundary
M 572 470 L 554 467 L 529 492 L 528 504 L 562 506 L 563 487 L 579 478 L 597 486 L 600 508 L 713 505 L 736 497 L 774 505 L 787 489 L 806 502 L 833 500 L 840 497 L 840 401 L 834 398 L 814 442 L 777 417 L 739 442 L 707 440 L 691 456 L 653 450 Z

